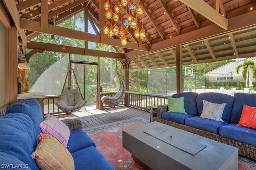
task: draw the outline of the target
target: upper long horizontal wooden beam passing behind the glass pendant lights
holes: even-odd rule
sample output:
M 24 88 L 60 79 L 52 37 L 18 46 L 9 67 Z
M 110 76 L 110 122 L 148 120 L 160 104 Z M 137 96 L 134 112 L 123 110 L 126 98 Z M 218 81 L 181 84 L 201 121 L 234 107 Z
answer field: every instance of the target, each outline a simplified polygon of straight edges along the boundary
M 95 43 L 103 43 L 100 41 L 100 36 L 94 35 L 94 34 L 89 34 L 87 32 L 81 32 L 77 30 L 70 30 L 68 28 L 62 28 L 58 26 L 53 26 L 48 24 L 48 29 L 41 28 L 40 22 L 35 22 L 31 20 L 27 20 L 24 18 L 20 19 L 20 28 L 25 29 L 25 30 L 30 30 L 34 32 L 41 32 L 41 33 L 46 33 L 46 34 L 51 34 L 51 35 L 56 35 L 56 36 L 62 36 L 62 37 L 69 37 L 69 38 L 74 38 L 78 40 L 84 40 L 88 42 L 95 42 Z M 121 45 L 120 40 L 114 39 L 114 38 L 105 38 L 106 42 L 105 44 L 107 45 L 113 45 L 116 47 L 124 47 Z M 132 43 L 132 42 L 127 42 L 127 45 L 125 48 L 128 49 L 136 49 L 136 50 L 141 50 L 141 51 L 149 51 L 149 46 L 148 45 L 139 45 L 137 43 Z

